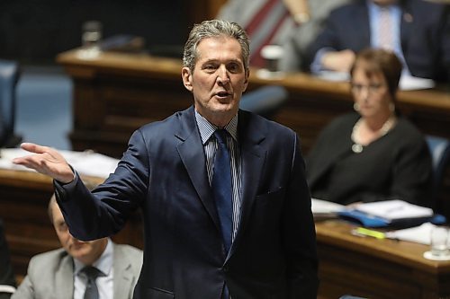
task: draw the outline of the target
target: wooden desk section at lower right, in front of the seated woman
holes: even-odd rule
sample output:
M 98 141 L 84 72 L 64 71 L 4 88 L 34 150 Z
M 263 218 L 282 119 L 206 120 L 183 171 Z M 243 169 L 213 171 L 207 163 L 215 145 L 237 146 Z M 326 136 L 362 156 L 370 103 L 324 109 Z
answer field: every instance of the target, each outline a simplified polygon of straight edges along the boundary
M 450 261 L 423 258 L 428 246 L 358 237 L 339 220 L 316 224 L 320 298 L 450 298 Z

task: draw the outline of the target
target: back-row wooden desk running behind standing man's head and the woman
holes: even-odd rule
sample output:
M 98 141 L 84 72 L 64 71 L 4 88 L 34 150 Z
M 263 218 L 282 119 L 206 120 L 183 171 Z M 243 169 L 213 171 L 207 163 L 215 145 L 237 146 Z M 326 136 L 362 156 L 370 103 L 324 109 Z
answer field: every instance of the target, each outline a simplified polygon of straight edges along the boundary
M 181 79 L 178 59 L 103 53 L 82 59 L 77 50 L 61 53 L 57 61 L 74 82 L 73 149 L 94 149 L 120 157 L 136 128 L 165 119 L 193 103 Z M 265 80 L 252 70 L 249 89 L 266 84 L 283 85 L 289 101 L 275 116 L 302 138 L 305 153 L 330 119 L 352 110 L 347 83 L 320 80 L 306 74 L 288 74 Z M 399 107 L 423 132 L 450 137 L 449 91 L 399 93 Z

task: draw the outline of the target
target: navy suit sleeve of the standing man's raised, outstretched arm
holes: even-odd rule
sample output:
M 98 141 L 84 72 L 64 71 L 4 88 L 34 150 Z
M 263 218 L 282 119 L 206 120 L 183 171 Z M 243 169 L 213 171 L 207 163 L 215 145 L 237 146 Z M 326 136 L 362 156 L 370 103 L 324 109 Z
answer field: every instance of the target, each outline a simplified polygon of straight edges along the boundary
M 92 192 L 78 175 L 65 185 L 55 181 L 58 205 L 70 233 L 89 241 L 119 232 L 146 197 L 148 176 L 148 151 L 138 130 L 130 137 L 128 150 L 114 173 Z

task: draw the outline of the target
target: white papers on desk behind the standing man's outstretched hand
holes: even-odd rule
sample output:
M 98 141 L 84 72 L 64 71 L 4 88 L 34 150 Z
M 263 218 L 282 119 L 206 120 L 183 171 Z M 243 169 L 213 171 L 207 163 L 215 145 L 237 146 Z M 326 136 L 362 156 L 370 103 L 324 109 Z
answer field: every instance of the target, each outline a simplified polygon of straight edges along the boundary
M 71 164 L 80 174 L 98 178 L 107 178 L 109 174 L 115 170 L 117 163 L 119 163 L 119 160 L 117 159 L 89 151 L 73 152 L 58 150 L 58 152 L 62 154 L 67 160 L 67 163 Z M 30 152 L 27 152 L 22 148 L 3 148 L 0 152 L 0 168 L 16 171 L 32 171 L 22 165 L 17 165 L 12 162 L 16 157 L 30 154 Z

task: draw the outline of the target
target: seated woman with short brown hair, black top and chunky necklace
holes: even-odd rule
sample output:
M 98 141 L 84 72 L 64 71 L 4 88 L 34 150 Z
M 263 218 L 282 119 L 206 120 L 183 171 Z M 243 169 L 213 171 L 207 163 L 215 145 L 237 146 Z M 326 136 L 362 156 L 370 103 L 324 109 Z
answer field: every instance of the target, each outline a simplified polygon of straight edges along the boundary
M 312 198 L 342 205 L 398 198 L 433 207 L 428 145 L 395 106 L 400 59 L 365 49 L 350 75 L 356 113 L 331 121 L 306 157 Z

